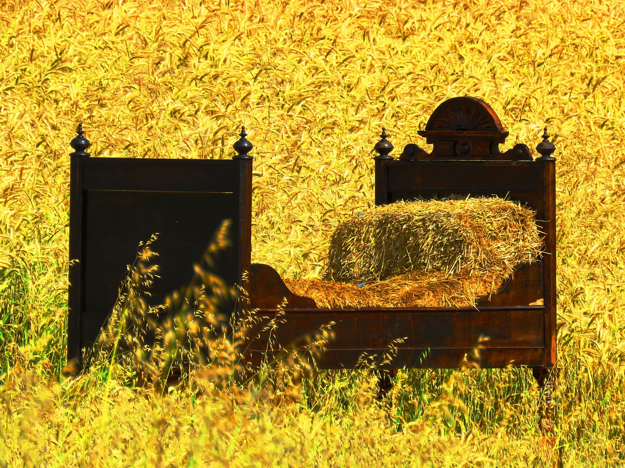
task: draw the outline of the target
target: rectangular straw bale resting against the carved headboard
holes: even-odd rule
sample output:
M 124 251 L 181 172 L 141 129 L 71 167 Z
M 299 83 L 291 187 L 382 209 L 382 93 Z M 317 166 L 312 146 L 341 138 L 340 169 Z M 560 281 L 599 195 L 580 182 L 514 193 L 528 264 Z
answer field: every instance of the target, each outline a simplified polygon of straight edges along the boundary
M 397 202 L 336 228 L 324 279 L 381 281 L 412 271 L 507 276 L 539 255 L 534 212 L 516 203 L 485 197 Z

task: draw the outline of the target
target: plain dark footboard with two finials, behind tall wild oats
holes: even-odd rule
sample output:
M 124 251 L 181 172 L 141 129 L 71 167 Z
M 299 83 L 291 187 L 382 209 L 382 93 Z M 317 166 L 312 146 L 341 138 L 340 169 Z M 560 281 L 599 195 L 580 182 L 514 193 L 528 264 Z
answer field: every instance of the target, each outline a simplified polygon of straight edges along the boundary
M 232 247 L 217 274 L 239 283 L 251 256 L 252 157 L 245 139 L 231 160 L 89 157 L 78 128 L 71 146 L 68 360 L 96 340 L 139 243 L 158 233 L 151 305 L 188 283 L 224 220 Z M 238 147 L 237 147 L 238 145 Z M 231 313 L 232 309 L 227 311 Z

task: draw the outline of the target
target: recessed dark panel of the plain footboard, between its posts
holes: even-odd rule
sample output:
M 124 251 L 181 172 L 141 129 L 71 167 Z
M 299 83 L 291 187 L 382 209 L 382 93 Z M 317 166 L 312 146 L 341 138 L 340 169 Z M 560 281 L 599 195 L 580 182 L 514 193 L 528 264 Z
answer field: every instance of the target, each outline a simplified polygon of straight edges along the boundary
M 84 310 L 108 312 L 118 296 L 138 253 L 140 241 L 158 233 L 151 246 L 159 265 L 151 288 L 151 305 L 188 284 L 193 264 L 200 263 L 206 246 L 222 220 L 236 213 L 234 195 L 227 193 L 109 192 L 88 190 L 84 253 Z M 158 209 L 154 209 L 158 207 Z M 236 220 L 232 220 L 235 222 Z M 236 224 L 232 226 L 236 233 Z M 219 275 L 228 283 L 237 279 L 232 251 L 222 258 Z

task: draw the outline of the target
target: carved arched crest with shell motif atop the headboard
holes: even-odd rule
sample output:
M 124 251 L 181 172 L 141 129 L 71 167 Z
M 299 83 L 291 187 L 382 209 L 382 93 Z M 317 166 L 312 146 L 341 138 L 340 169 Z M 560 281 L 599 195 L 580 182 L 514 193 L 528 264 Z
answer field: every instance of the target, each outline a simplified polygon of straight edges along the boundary
M 432 152 L 428 154 L 418 145 L 409 144 L 399 159 L 532 160 L 527 145 L 517 144 L 506 152 L 499 151 L 508 132 L 492 107 L 476 97 L 447 99 L 432 112 L 426 129 L 417 133 L 434 145 Z

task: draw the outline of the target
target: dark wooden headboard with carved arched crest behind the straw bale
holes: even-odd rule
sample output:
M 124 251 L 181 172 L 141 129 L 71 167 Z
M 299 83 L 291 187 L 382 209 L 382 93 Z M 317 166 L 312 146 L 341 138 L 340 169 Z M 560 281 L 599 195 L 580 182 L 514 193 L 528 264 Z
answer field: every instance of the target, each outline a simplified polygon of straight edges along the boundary
M 556 158 L 544 129 L 534 160 L 529 148 L 517 144 L 505 152 L 506 140 L 494 110 L 476 97 L 454 97 L 439 105 L 418 132 L 433 146 L 427 153 L 417 144 L 404 147 L 398 160 L 382 129 L 376 144 L 376 205 L 442 198 L 448 195 L 497 196 L 536 210 L 536 224 L 543 233 L 542 263 L 531 266 L 541 275 L 544 294 L 546 361 L 556 357 Z M 530 271 L 530 274 L 532 273 Z M 503 297 L 503 296 L 502 296 Z

